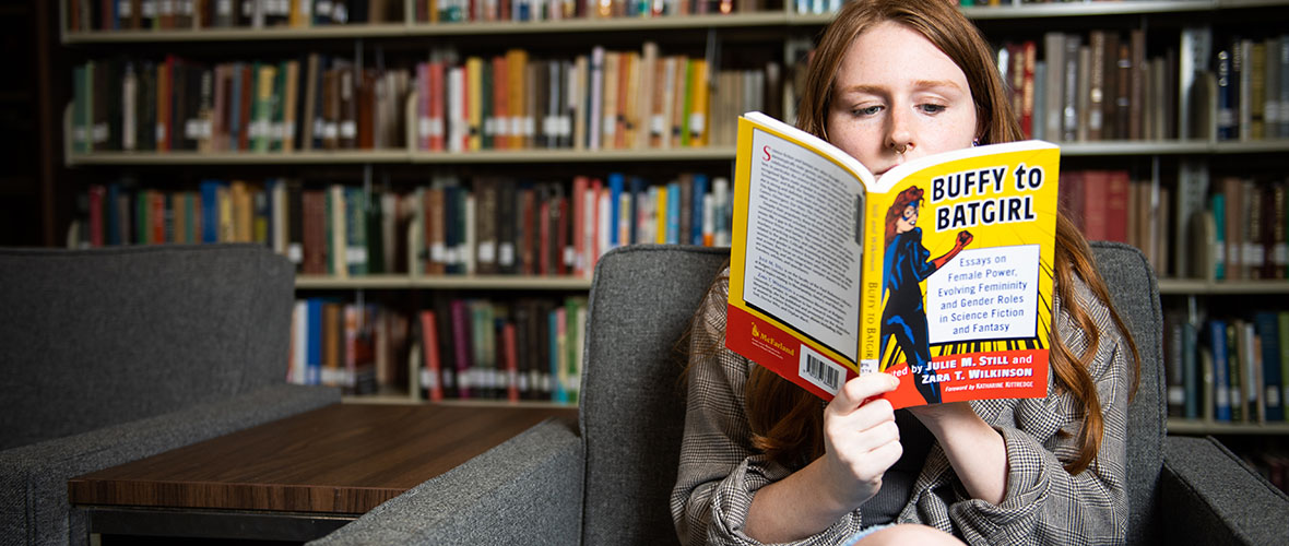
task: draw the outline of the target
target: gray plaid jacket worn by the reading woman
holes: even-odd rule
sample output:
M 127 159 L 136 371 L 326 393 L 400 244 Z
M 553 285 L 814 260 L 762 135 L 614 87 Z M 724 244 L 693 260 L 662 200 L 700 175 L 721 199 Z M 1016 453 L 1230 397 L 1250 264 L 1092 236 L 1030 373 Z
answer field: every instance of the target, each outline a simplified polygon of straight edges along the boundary
M 693 357 L 690 370 L 684 439 L 672 515 L 686 545 L 755 545 L 744 533 L 753 494 L 761 487 L 791 474 L 770 462 L 750 446 L 744 382 L 754 366 L 724 349 L 726 295 L 722 282 L 704 300 L 695 345 L 718 346 L 717 354 Z M 914 482 L 913 492 L 896 518 L 951 532 L 968 543 L 990 545 L 1100 545 L 1123 543 L 1128 522 L 1124 483 L 1128 391 L 1132 353 L 1114 327 L 1109 309 L 1081 281 L 1075 287 L 1079 305 L 1101 330 L 1090 375 L 1105 417 L 1101 451 L 1079 475 L 1063 464 L 1078 455 L 1079 421 L 1075 403 L 1053 389 L 1042 399 L 974 400 L 972 408 L 1002 433 L 1007 444 L 1007 492 L 999 505 L 971 498 L 956 479 L 938 443 L 933 443 Z M 1057 305 L 1057 332 L 1083 354 L 1088 339 Z M 695 352 L 699 354 L 699 352 Z M 1069 434 L 1058 434 L 1065 430 Z M 856 509 L 799 545 L 835 545 L 864 525 Z

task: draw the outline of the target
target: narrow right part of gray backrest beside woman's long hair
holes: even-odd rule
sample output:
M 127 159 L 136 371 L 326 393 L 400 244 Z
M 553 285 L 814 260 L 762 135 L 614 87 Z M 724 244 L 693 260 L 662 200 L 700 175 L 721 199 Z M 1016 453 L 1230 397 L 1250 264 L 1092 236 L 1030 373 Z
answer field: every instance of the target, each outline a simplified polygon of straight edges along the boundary
M 1164 397 L 1164 315 L 1155 270 L 1136 247 L 1097 241 L 1092 243 L 1101 277 L 1110 287 L 1115 310 L 1128 326 L 1141 355 L 1141 382 L 1128 406 L 1128 543 L 1158 543 L 1159 494 L 1156 484 L 1164 464 L 1168 419 Z

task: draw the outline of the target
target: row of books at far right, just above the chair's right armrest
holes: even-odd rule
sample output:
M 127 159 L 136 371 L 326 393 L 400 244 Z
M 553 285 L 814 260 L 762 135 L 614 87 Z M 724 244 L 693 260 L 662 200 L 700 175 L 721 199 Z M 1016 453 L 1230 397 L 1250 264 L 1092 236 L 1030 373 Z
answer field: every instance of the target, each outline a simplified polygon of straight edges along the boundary
M 1214 422 L 1284 422 L 1289 312 L 1164 317 L 1168 412 Z

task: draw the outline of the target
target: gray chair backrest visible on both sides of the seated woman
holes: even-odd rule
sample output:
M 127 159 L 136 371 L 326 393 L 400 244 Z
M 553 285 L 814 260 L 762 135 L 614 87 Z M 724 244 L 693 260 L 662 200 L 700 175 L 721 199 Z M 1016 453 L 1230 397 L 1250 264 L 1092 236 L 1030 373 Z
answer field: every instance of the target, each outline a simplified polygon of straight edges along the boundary
M 1164 434 L 1155 276 L 1136 249 L 1093 243 L 1101 274 L 1142 357 L 1129 407 L 1128 543 L 1158 542 L 1155 483 Z M 642 245 L 601 258 L 590 290 L 581 385 L 586 443 L 583 543 L 677 543 L 669 511 L 684 425 L 675 343 L 728 251 Z

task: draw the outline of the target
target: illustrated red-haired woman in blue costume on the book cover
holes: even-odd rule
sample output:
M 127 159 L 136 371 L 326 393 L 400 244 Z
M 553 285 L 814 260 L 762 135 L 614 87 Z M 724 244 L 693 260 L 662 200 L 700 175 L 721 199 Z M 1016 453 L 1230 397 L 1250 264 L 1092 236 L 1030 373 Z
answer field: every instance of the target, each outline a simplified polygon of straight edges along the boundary
M 887 303 L 882 309 L 880 354 L 886 355 L 887 341 L 895 336 L 909 370 L 914 371 L 914 385 L 927 403 L 935 404 L 940 403 L 940 384 L 922 380 L 922 376 L 935 376 L 936 372 L 929 368 L 931 334 L 927 328 L 927 310 L 922 305 L 920 283 L 967 247 L 972 234 L 967 231 L 958 232 L 953 250 L 931 259 L 931 251 L 922 246 L 922 228 L 916 227 L 922 194 L 920 188 L 909 187 L 896 196 L 895 203 L 887 210 L 882 276 L 882 295 L 887 297 Z

